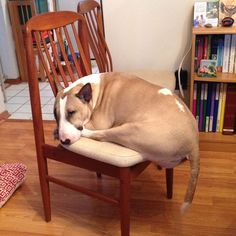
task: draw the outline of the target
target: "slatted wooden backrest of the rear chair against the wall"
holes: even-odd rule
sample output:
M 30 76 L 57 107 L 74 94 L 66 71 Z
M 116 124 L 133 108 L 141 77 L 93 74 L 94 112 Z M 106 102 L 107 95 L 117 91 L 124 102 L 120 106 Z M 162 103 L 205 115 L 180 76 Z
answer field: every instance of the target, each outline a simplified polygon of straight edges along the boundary
M 113 70 L 112 57 L 105 41 L 101 7 L 94 0 L 85 0 L 78 3 L 78 13 L 85 17 L 92 39 L 91 51 L 95 57 L 99 72 Z

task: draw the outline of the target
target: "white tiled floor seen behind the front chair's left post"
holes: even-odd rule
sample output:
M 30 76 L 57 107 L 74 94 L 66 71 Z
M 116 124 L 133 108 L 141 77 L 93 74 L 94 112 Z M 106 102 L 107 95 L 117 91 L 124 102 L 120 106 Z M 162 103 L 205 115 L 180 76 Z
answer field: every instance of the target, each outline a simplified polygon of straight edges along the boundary
M 48 82 L 40 82 L 41 106 L 44 120 L 54 120 L 54 95 Z M 9 119 L 32 119 L 28 83 L 10 85 L 6 89 L 6 109 L 11 114 Z

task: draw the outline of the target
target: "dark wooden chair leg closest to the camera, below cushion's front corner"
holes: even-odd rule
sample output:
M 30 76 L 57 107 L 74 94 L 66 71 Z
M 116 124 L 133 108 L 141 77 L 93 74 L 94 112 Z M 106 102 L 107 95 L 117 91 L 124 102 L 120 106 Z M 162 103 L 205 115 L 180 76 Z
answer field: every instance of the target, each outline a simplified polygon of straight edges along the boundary
M 129 236 L 130 231 L 130 169 L 120 171 L 120 225 L 121 236 Z

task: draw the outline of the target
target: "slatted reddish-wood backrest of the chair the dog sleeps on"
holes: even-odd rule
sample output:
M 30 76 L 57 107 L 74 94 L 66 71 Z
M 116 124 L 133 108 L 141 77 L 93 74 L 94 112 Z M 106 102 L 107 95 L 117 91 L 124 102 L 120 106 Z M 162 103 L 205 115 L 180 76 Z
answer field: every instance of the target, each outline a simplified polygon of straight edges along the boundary
M 80 37 L 78 34 L 80 25 Z M 26 54 L 35 138 L 44 143 L 40 93 L 37 78 L 36 54 L 39 56 L 54 95 L 57 85 L 69 85 L 91 74 L 88 51 L 87 24 L 76 12 L 61 11 L 32 17 L 26 24 Z M 83 46 L 82 46 L 83 45 Z

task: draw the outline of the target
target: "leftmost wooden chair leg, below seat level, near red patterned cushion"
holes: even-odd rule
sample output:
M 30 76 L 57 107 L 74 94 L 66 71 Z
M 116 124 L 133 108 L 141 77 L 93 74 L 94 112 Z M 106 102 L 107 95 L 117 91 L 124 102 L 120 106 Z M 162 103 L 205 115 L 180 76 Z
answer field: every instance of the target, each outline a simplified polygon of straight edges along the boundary
M 45 221 L 51 221 L 51 203 L 50 203 L 50 189 L 49 181 L 47 180 L 48 168 L 46 158 L 38 158 L 39 180 L 41 187 L 41 194 L 43 200 Z

